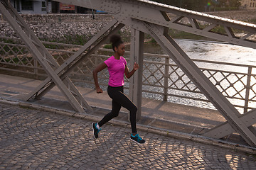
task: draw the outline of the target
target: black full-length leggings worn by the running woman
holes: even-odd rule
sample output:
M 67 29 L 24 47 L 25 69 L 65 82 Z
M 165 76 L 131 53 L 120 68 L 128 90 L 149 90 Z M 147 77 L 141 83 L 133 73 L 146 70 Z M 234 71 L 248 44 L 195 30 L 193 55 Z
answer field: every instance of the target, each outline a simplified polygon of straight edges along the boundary
M 132 126 L 132 133 L 137 133 L 136 128 L 136 113 L 137 106 L 129 100 L 129 98 L 124 94 L 124 86 L 112 87 L 108 86 L 107 94 L 112 98 L 112 111 L 107 113 L 102 120 L 99 122 L 99 126 L 101 127 L 108 121 L 112 120 L 112 118 L 117 117 L 121 106 L 127 108 L 130 112 L 130 122 Z

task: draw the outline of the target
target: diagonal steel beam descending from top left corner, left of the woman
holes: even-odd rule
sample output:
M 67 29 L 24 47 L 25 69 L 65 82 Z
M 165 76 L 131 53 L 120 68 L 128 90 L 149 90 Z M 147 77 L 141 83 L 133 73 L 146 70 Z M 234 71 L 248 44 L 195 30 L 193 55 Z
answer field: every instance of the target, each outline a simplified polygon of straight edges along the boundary
M 75 111 L 84 113 L 85 111 L 82 106 L 80 106 L 80 103 L 78 103 L 77 99 L 73 96 L 69 89 L 67 89 L 67 87 L 65 86 L 63 81 L 61 81 L 58 75 L 55 74 L 54 69 L 55 67 L 58 67 L 57 62 L 55 62 L 48 50 L 46 50 L 46 47 L 44 47 L 40 40 L 38 40 L 36 35 L 34 35 L 31 28 L 29 28 L 26 22 L 23 21 L 23 18 L 19 16 L 11 3 L 2 0 L 0 3 L 0 11 L 4 18 L 6 18 L 6 21 L 9 22 L 11 27 L 16 31 L 16 33 L 26 44 L 28 50 L 30 50 L 33 57 L 36 57 L 38 62 L 42 65 L 43 69 L 45 69 L 45 71 L 48 73 L 49 77 L 58 86 L 60 91 L 62 91 L 62 93 L 68 99 Z M 65 80 L 65 83 L 69 84 L 73 91 L 76 90 L 76 88 L 74 89 L 75 86 L 73 86 L 72 82 L 68 79 Z M 79 96 L 79 94 L 76 95 Z M 88 107 L 88 109 L 92 111 L 92 108 Z

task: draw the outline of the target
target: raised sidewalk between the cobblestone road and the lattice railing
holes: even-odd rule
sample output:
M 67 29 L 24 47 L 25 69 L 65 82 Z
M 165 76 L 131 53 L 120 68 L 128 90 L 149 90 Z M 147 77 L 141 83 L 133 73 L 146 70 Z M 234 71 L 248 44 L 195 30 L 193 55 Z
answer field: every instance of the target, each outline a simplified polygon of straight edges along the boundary
M 23 96 L 26 96 L 32 89 L 41 84 L 41 81 L 5 74 L 0 74 L 0 77 L 1 103 L 14 102 L 16 105 L 23 107 L 38 108 L 44 111 L 48 110 L 53 113 L 58 112 L 62 115 L 95 121 L 100 120 L 107 114 L 112 106 L 107 92 L 96 94 L 92 89 L 81 87 L 78 87 L 78 89 L 82 96 L 85 97 L 85 100 L 92 106 L 94 113 L 75 113 L 57 87 L 49 91 L 41 100 L 23 101 Z M 122 125 L 129 129 L 129 122 L 127 120 L 127 111 L 122 108 L 119 116 L 112 120 L 112 124 Z M 243 152 L 256 152 L 255 148 L 247 146 L 247 143 L 240 135 L 230 135 L 222 140 L 209 139 L 200 135 L 205 130 L 223 122 L 225 122 L 225 118 L 218 111 L 143 98 L 142 119 L 138 121 L 137 127 L 139 130 L 180 139 L 219 145 L 220 147 L 228 147 L 236 150 L 241 149 Z

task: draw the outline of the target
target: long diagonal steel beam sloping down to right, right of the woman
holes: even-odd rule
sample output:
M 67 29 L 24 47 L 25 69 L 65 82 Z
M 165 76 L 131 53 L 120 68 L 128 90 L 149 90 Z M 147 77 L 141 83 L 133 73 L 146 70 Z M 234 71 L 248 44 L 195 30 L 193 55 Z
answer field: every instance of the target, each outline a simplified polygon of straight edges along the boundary
M 238 118 L 239 112 L 235 107 L 216 89 L 210 80 L 201 72 L 194 62 L 186 55 L 181 47 L 168 35 L 167 29 L 151 23 L 144 23 L 149 34 L 161 47 L 172 57 L 174 62 L 193 81 L 198 89 L 213 103 L 220 113 L 228 120 L 233 129 L 247 141 L 249 145 L 256 146 L 256 136 L 247 128 L 247 125 Z

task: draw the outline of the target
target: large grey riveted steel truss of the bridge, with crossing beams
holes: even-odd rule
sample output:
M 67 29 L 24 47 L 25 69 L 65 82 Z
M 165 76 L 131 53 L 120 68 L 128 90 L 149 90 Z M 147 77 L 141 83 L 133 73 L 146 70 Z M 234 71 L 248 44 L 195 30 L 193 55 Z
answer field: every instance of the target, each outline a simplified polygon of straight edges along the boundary
M 85 101 L 85 98 L 83 98 L 73 82 L 70 81 L 68 74 L 80 62 L 92 55 L 100 45 L 107 42 L 110 35 L 117 33 L 123 26 L 129 26 L 132 28 L 131 63 L 137 62 L 139 65 L 143 65 L 144 33 L 151 35 L 227 120 L 225 123 L 203 133 L 203 136 L 219 139 L 233 132 L 238 132 L 250 146 L 256 147 L 256 130 L 252 127 L 256 123 L 256 111 L 252 110 L 240 114 L 235 106 L 218 91 L 206 75 L 203 74 L 201 69 L 198 68 L 168 34 L 169 28 L 173 28 L 187 33 L 229 42 L 234 45 L 256 48 L 255 40 L 251 40 L 251 37 L 256 34 L 256 25 L 146 0 L 56 1 L 106 11 L 112 14 L 114 19 L 86 42 L 80 50 L 75 52 L 63 64 L 59 65 L 53 56 L 50 55 L 50 52 L 46 50 L 42 42 L 38 40 L 28 24 L 18 14 L 16 9 L 11 6 L 11 3 L 8 0 L 1 0 L 1 14 L 48 74 L 48 78 L 23 98 L 24 100 L 28 101 L 30 98 L 41 98 L 54 86 L 58 86 L 58 89 L 64 94 L 75 111 L 80 113 L 92 112 L 92 108 Z M 171 13 L 172 17 L 167 13 Z M 208 24 L 206 27 L 202 27 L 201 22 Z M 219 29 L 217 28 L 223 28 L 225 33 L 219 33 Z M 236 30 L 240 30 L 244 34 L 237 36 L 235 35 Z M 250 89 L 250 86 L 247 86 L 246 89 Z M 137 104 L 139 108 L 138 118 L 140 118 L 142 106 L 142 69 L 139 69 L 129 82 L 129 96 Z

